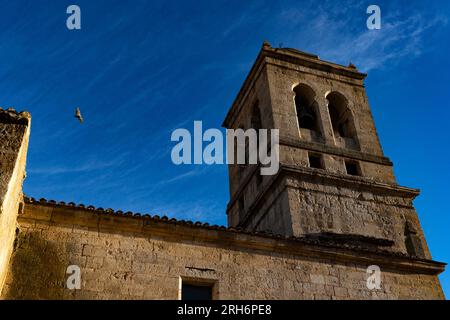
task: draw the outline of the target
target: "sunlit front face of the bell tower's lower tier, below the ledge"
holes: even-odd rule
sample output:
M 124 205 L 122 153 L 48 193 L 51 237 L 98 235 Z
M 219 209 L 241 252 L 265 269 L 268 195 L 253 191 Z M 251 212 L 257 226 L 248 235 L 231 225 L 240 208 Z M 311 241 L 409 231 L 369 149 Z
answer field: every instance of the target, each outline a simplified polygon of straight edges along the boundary
M 359 234 L 392 240 L 388 250 L 407 254 L 405 225 L 408 221 L 418 232 L 424 257 L 431 259 L 411 198 L 376 188 L 318 184 L 315 179 L 289 178 L 286 184 L 294 235 Z

